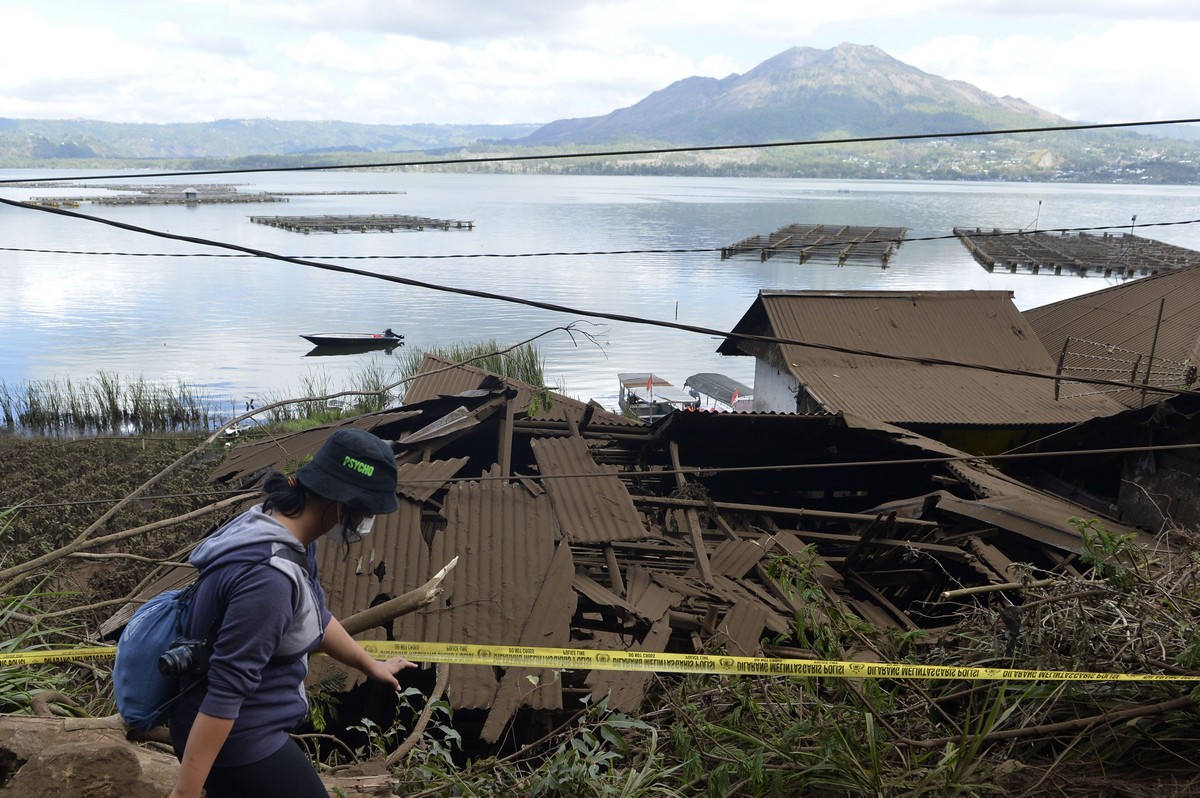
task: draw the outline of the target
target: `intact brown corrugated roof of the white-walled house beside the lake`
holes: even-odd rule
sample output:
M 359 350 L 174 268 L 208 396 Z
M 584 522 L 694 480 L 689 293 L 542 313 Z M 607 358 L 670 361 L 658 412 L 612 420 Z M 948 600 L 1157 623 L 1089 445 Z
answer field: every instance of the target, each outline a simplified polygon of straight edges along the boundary
M 734 332 L 865 353 L 1052 374 L 1055 364 L 1008 292 L 760 292 Z M 1055 401 L 1054 382 L 870 354 L 727 340 L 790 372 L 829 413 L 892 424 L 1062 425 L 1120 412 L 1103 396 Z

